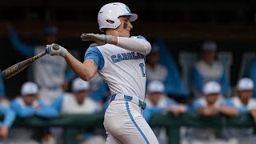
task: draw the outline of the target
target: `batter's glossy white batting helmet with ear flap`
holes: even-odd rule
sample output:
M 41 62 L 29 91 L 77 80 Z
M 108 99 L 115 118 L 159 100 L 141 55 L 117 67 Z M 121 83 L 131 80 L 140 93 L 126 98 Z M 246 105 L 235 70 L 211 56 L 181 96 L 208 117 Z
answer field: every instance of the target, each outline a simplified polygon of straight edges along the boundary
M 116 29 L 121 24 L 118 17 L 122 15 L 130 15 L 130 22 L 134 22 L 138 18 L 137 14 L 131 14 L 129 7 L 121 2 L 108 3 L 102 6 L 98 12 L 99 30 L 103 32 L 102 29 L 104 28 Z

